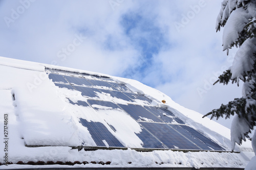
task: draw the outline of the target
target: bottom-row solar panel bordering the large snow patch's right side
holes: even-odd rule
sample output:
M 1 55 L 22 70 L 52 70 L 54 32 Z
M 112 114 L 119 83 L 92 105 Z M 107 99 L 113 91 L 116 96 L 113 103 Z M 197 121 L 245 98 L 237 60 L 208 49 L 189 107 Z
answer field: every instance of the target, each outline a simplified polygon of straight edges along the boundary
M 142 140 L 143 148 L 166 148 L 164 145 L 158 141 L 154 136 L 152 136 L 149 132 L 147 132 L 144 128 L 141 128 L 140 133 L 135 133 L 140 140 Z

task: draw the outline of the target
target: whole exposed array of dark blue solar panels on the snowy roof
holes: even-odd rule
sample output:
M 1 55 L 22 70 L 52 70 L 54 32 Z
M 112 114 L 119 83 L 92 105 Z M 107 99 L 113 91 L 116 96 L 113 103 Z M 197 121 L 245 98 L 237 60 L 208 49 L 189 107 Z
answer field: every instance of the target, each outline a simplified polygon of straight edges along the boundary
M 151 99 L 137 93 L 122 83 L 108 77 L 97 77 L 87 74 L 69 72 L 50 72 L 51 79 L 59 88 L 77 90 L 84 96 L 84 101 L 70 104 L 92 107 L 96 111 L 102 109 L 119 109 L 133 119 L 141 127 L 136 135 L 141 139 L 142 148 L 150 149 L 180 149 L 180 150 L 217 150 L 224 149 L 215 141 L 199 131 L 186 125 L 183 120 L 163 107 L 151 106 Z M 113 101 L 102 101 L 100 94 L 107 94 L 113 99 L 122 100 L 125 104 Z M 138 104 L 138 101 L 140 101 Z M 144 105 L 141 105 L 144 103 Z M 98 147 L 124 147 L 116 136 L 116 129 L 108 122 L 88 122 L 80 118 L 80 123 L 87 127 Z

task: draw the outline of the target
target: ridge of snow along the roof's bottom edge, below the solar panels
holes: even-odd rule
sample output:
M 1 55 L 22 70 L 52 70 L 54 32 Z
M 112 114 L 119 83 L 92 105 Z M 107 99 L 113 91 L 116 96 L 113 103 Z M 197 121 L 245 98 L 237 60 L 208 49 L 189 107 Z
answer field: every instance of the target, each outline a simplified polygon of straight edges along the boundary
M 39 149 L 38 149 L 39 150 Z M 40 150 L 43 150 L 41 148 Z M 97 150 L 77 151 L 66 147 L 44 147 L 44 154 L 30 153 L 24 158 L 28 160 L 52 161 L 79 161 L 83 162 L 108 162 L 110 165 L 101 164 L 76 164 L 72 167 L 245 167 L 243 157 L 236 153 L 210 153 L 210 152 L 178 152 L 178 151 L 153 151 L 136 152 L 135 150 Z M 33 157 L 34 156 L 34 157 Z M 61 159 L 59 159 L 61 158 Z M 130 162 L 130 163 L 129 163 Z M 1 166 L 0 166 L 1 167 Z M 6 169 L 11 168 L 41 168 L 32 165 L 2 165 Z M 70 167 L 68 165 L 44 165 L 44 167 Z

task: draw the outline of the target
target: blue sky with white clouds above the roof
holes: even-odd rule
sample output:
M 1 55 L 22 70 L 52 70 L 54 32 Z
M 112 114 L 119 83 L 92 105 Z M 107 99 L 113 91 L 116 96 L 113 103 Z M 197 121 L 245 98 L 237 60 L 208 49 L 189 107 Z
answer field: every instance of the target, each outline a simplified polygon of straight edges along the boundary
M 242 96 L 212 85 L 237 51 L 215 30 L 221 2 L 0 0 L 0 56 L 135 79 L 206 114 Z

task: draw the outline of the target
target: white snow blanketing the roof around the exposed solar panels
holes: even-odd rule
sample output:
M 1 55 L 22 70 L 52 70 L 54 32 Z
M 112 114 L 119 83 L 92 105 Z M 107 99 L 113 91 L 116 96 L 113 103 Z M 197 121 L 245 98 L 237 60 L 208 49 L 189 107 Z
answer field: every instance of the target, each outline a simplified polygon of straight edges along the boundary
M 110 161 L 110 165 L 101 164 L 75 164 L 73 167 L 242 167 L 244 168 L 253 156 L 252 152 L 178 152 L 178 151 L 153 151 L 137 152 L 127 150 L 97 150 L 78 152 L 71 147 L 96 146 L 88 129 L 83 127 L 80 118 L 88 122 L 100 122 L 127 148 L 142 148 L 143 142 L 136 133 L 141 131 L 139 124 L 130 115 L 121 109 L 111 109 L 102 106 L 84 107 L 73 105 L 69 100 L 87 101 L 81 92 L 59 88 L 48 79 L 45 69 L 75 71 L 84 74 L 101 75 L 94 72 L 76 70 L 71 68 L 49 66 L 46 64 L 25 62 L 0 57 L 0 79 L 5 80 L 0 84 L 0 108 L 3 114 L 8 113 L 9 119 L 9 162 L 18 161 Z M 111 76 L 108 76 L 111 77 Z M 217 141 L 226 150 L 230 148 L 230 130 L 220 124 L 202 118 L 200 113 L 186 109 L 162 92 L 145 86 L 142 83 L 118 77 L 111 77 L 114 81 L 123 82 L 127 87 L 138 93 L 145 94 L 153 102 L 151 106 L 165 107 L 181 118 L 187 125 L 199 130 L 206 136 Z M 13 98 L 14 94 L 14 98 Z M 114 101 L 118 104 L 129 102 L 113 98 L 107 93 L 98 93 L 97 99 Z M 166 100 L 162 104 L 162 100 Z M 141 105 L 145 104 L 140 101 Z M 133 102 L 131 102 L 133 103 Z M 136 103 L 138 104 L 138 103 Z M 145 117 L 141 117 L 144 119 Z M 123 121 L 115 121 L 116 119 Z M 150 120 L 147 120 L 150 121 Z M 0 117 L 0 126 L 3 126 L 4 117 Z M 112 130 L 113 126 L 116 130 Z M 1 133 L 1 138 L 3 133 Z M 108 142 L 103 141 L 106 147 Z M 45 145 L 49 147 L 25 147 L 27 145 Z M 250 142 L 244 142 L 236 147 L 235 151 L 252 151 Z M 1 155 L 4 150 L 1 149 Z M 0 159 L 4 162 L 4 158 Z M 132 162 L 132 163 L 129 163 Z M 37 168 L 38 165 L 2 165 L 0 168 Z M 44 165 L 46 167 L 69 167 L 68 165 Z

